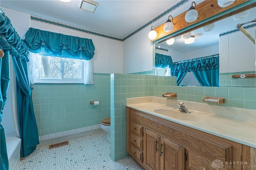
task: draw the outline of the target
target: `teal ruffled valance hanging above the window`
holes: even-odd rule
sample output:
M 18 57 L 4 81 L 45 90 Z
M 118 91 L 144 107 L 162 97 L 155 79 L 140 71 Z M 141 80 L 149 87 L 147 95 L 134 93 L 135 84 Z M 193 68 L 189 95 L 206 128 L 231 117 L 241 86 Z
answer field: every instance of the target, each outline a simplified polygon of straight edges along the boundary
M 95 47 L 92 39 L 80 38 L 61 33 L 53 33 L 29 28 L 24 42 L 32 53 L 40 53 L 42 48 L 55 57 L 90 60 L 94 56 Z

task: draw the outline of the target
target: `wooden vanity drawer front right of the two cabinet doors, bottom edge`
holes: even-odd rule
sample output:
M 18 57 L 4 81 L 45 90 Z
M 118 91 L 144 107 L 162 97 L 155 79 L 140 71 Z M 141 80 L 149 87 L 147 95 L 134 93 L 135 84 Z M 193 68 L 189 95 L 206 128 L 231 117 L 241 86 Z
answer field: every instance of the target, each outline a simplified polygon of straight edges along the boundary
M 193 152 L 189 153 L 188 160 L 190 170 L 228 170 L 225 168 L 225 162 L 219 159 L 208 160 L 205 156 Z

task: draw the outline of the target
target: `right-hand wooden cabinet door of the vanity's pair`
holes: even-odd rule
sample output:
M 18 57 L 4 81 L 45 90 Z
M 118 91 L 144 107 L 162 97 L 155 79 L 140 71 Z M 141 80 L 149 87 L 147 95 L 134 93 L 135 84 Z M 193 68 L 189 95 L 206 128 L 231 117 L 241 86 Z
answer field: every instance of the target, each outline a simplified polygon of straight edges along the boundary
M 168 139 L 161 137 L 161 170 L 185 170 L 185 149 Z

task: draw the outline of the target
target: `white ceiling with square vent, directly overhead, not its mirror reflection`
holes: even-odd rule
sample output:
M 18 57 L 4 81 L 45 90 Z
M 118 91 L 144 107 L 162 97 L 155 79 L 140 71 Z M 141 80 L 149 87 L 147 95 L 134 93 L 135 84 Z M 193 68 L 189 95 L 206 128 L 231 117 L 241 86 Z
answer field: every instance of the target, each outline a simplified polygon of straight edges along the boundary
M 180 0 L 95 1 L 95 13 L 80 10 L 81 0 L 1 0 L 0 6 L 123 39 Z

